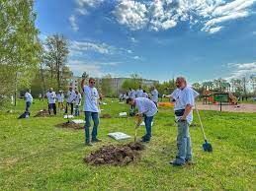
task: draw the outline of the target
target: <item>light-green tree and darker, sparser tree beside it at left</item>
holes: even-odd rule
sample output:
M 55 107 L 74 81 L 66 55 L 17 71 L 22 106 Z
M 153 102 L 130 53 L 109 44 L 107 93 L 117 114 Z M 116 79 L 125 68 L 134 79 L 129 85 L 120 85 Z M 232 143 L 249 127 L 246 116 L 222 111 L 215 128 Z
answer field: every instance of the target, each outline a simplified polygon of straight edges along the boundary
M 0 106 L 10 96 L 34 88 L 65 89 L 72 73 L 66 66 L 68 43 L 62 34 L 39 38 L 34 0 L 0 2 Z

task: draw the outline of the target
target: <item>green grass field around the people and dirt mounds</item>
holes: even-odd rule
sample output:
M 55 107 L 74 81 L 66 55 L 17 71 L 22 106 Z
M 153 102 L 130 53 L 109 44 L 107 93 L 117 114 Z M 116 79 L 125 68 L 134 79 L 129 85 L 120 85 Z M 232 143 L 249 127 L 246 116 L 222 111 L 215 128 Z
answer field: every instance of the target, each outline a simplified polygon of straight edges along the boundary
M 160 108 L 152 129 L 152 141 L 141 159 L 127 166 L 92 166 L 83 158 L 103 145 L 119 144 L 107 137 L 122 131 L 133 135 L 133 118 L 119 118 L 128 105 L 107 100 L 101 119 L 102 143 L 84 146 L 84 131 L 60 129 L 56 117 L 18 120 L 24 104 L 13 113 L 0 112 L 0 190 L 256 190 L 256 115 L 201 111 L 213 153 L 202 151 L 203 138 L 195 115 L 190 128 L 195 165 L 173 167 L 177 127 L 172 108 Z M 43 108 L 36 100 L 32 115 Z M 9 108 L 8 108 L 9 109 Z M 80 116 L 83 118 L 83 113 Z M 142 136 L 144 127 L 138 135 Z M 131 139 L 132 140 L 132 139 Z M 123 141 L 121 143 L 127 143 Z

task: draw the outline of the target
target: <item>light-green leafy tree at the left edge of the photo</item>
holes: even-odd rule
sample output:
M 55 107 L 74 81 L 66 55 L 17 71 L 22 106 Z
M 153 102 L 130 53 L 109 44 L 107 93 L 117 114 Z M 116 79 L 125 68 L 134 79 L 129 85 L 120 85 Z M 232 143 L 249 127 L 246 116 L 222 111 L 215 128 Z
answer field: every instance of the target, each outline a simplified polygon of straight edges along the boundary
M 0 87 L 4 87 L 1 100 L 16 95 L 23 87 L 29 88 L 39 66 L 42 46 L 33 8 L 33 0 L 0 1 Z

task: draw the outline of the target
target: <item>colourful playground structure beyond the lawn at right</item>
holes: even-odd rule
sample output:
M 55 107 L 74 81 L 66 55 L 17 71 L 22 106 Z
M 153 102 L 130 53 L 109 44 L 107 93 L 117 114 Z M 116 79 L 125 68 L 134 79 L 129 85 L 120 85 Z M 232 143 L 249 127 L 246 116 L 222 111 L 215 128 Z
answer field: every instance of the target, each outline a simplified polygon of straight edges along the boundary
M 219 90 L 213 90 L 213 83 L 204 83 L 203 104 L 236 105 L 237 97 L 230 92 L 229 83 L 220 83 Z

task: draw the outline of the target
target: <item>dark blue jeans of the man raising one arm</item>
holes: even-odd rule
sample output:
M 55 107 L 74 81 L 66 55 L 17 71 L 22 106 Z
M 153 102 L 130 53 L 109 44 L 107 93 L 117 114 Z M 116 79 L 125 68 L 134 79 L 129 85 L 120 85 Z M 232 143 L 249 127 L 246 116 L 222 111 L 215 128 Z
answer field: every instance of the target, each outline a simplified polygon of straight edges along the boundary
M 99 125 L 99 115 L 98 112 L 90 112 L 90 111 L 85 111 L 85 143 L 90 142 L 90 126 L 91 126 L 91 118 L 93 119 L 93 131 L 92 131 L 92 140 L 97 139 L 97 129 Z

